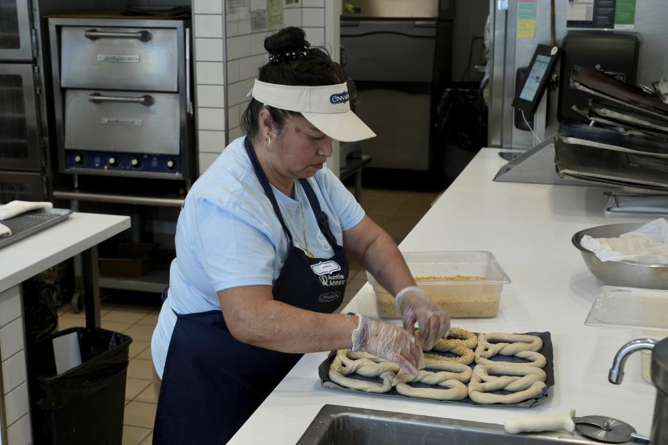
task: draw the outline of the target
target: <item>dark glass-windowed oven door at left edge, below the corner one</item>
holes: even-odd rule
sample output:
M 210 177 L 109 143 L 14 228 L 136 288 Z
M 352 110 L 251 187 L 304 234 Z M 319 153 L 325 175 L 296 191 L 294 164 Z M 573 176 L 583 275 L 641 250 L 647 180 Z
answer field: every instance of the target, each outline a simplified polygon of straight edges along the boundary
M 0 166 L 42 170 L 31 65 L 0 63 Z

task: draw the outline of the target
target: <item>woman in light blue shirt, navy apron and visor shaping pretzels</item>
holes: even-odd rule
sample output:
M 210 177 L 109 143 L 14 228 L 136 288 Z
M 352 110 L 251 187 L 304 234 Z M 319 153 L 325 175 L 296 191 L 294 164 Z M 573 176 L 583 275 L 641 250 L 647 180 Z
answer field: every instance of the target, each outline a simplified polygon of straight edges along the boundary
M 157 444 L 227 442 L 303 353 L 364 350 L 414 374 L 422 348 L 450 328 L 392 238 L 326 167 L 333 139 L 375 136 L 350 111 L 340 65 L 297 28 L 264 47 L 269 62 L 243 115 L 247 136 L 193 184 L 178 219 L 151 341 Z M 346 254 L 396 295 L 405 330 L 333 314 Z

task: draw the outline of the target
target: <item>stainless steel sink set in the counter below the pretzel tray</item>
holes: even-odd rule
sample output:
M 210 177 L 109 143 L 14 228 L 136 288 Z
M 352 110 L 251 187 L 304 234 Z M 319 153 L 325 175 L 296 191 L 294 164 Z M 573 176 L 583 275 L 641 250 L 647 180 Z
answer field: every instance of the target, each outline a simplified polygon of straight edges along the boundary
M 527 414 L 518 411 L 518 415 Z M 507 434 L 496 423 L 324 405 L 298 445 L 541 445 L 598 444 L 567 432 Z

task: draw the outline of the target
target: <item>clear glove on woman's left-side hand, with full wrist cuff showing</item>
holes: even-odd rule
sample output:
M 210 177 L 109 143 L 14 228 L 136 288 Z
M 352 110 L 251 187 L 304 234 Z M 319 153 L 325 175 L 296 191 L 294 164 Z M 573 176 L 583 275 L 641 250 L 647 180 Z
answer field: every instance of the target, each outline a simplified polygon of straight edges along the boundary
M 360 316 L 360 323 L 353 330 L 352 350 L 363 350 L 381 359 L 395 362 L 411 376 L 424 368 L 424 356 L 420 343 L 401 327 Z

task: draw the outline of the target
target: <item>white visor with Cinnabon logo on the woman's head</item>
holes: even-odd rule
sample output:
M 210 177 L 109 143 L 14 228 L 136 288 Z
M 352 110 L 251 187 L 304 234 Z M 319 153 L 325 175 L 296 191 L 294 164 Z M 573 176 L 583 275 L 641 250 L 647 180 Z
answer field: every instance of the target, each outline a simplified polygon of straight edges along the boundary
M 345 83 L 322 86 L 292 86 L 256 80 L 248 92 L 262 104 L 297 111 L 330 138 L 353 142 L 376 136 L 367 124 L 350 110 Z

